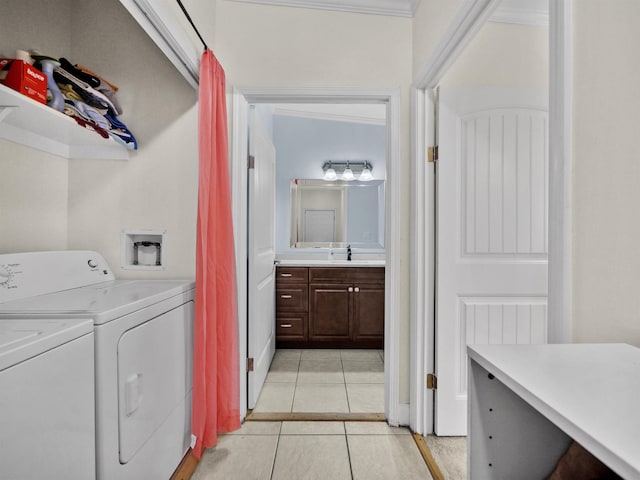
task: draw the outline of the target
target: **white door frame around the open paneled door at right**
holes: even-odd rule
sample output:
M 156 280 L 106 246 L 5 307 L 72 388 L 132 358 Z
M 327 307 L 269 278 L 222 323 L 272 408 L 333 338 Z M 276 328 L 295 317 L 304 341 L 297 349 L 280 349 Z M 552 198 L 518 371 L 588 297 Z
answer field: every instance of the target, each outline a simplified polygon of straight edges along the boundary
M 410 426 L 422 434 L 433 432 L 425 377 L 434 371 L 435 174 L 424 161 L 434 141 L 433 91 L 500 2 L 465 2 L 411 87 Z M 572 2 L 549 2 L 549 343 L 571 341 Z

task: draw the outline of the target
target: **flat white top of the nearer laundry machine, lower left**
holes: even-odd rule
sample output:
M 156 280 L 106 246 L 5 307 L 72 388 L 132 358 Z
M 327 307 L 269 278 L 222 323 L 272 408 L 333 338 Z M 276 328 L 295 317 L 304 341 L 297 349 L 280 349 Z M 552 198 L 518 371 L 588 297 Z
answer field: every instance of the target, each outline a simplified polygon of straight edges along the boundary
M 92 332 L 89 319 L 0 320 L 0 372 Z

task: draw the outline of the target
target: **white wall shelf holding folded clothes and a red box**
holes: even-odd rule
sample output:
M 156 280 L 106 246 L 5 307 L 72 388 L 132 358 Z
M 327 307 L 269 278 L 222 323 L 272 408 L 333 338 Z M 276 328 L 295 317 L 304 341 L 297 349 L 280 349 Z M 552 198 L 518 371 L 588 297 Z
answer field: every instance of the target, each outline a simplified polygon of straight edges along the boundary
M 4 85 L 0 85 L 0 138 L 63 158 L 129 159 L 129 151 L 115 140 Z

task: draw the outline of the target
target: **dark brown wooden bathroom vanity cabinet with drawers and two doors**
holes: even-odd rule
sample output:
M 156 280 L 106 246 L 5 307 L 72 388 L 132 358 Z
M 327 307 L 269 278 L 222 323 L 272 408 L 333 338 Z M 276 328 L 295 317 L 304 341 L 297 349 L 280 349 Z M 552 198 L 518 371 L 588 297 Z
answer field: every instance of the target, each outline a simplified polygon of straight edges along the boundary
M 278 348 L 384 346 L 384 267 L 278 266 Z

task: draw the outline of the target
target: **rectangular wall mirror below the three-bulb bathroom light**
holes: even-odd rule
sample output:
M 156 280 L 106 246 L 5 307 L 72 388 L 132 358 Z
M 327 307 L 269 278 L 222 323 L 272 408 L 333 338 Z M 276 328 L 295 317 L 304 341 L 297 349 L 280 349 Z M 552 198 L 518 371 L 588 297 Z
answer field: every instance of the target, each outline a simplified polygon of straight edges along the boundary
M 384 180 L 291 180 L 291 248 L 384 250 Z

